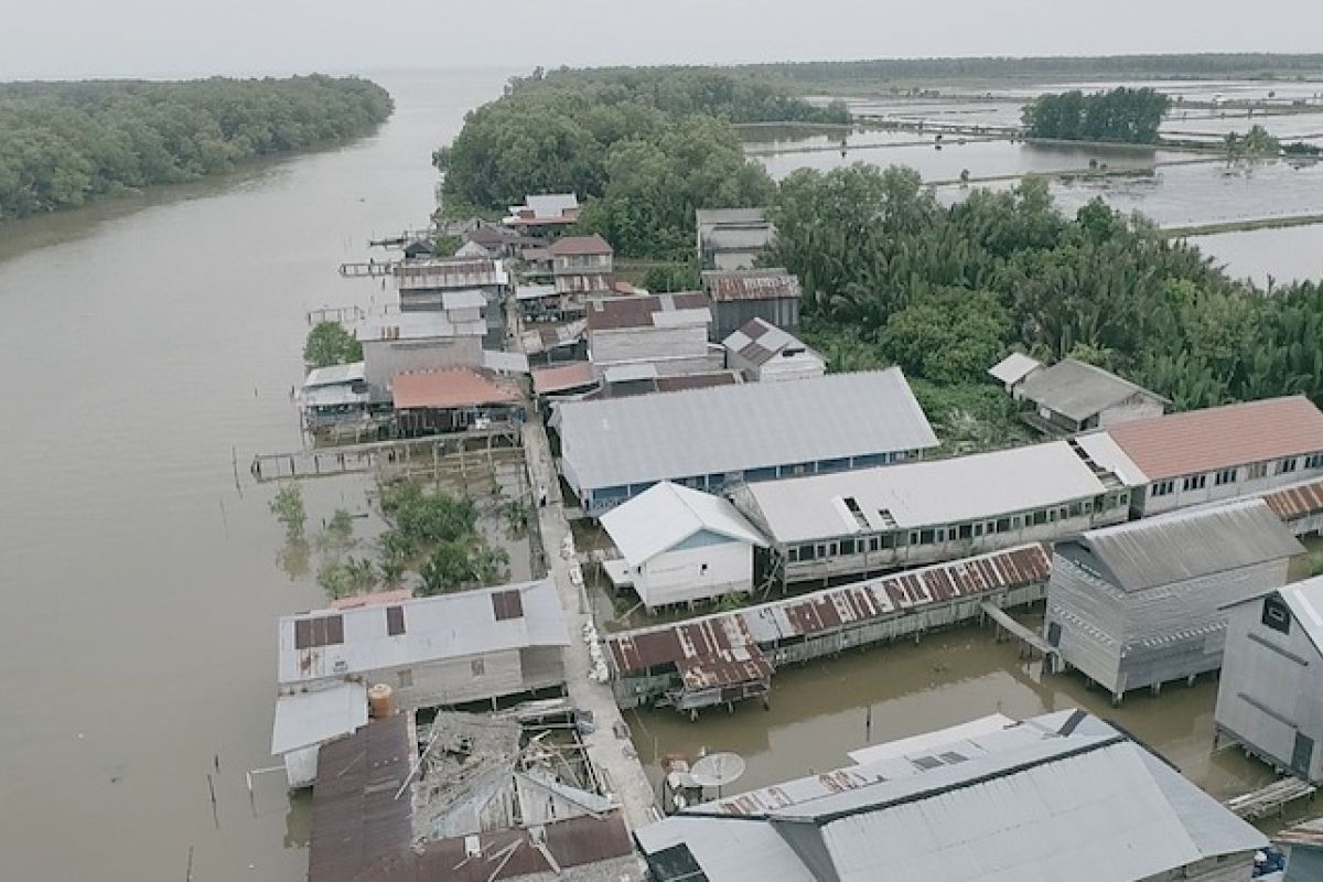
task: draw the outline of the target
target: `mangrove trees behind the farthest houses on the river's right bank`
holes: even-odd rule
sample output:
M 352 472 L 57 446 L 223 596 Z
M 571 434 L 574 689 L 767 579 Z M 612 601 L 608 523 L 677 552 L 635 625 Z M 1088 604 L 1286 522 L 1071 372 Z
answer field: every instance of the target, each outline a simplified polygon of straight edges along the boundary
M 696 209 L 763 205 L 775 192 L 733 123 L 785 120 L 844 123 L 849 112 L 726 71 L 538 70 L 468 114 L 434 161 L 447 214 L 573 192 L 587 201 L 579 226 L 619 254 L 680 257 Z

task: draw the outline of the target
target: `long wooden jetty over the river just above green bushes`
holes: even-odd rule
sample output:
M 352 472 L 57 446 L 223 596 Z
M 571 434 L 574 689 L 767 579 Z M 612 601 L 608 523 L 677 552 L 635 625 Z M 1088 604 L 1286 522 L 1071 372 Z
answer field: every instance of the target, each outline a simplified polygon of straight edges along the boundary
M 258 454 L 249 471 L 259 484 L 365 472 L 400 476 L 431 473 L 441 477 L 443 471 L 450 475 L 456 467 L 462 476 L 467 476 L 470 463 L 474 467 L 486 463 L 488 468 L 495 468 L 496 460 L 508 459 L 511 451 L 523 456 L 519 427 L 500 423 L 447 435 Z

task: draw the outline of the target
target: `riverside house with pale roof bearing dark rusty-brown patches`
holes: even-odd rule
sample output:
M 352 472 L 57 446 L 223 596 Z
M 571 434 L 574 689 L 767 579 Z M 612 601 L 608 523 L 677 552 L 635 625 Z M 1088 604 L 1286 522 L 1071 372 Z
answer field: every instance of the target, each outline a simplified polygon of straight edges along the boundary
M 560 686 L 568 644 L 544 579 L 282 616 L 278 680 L 282 696 L 364 682 L 404 709 L 454 706 Z

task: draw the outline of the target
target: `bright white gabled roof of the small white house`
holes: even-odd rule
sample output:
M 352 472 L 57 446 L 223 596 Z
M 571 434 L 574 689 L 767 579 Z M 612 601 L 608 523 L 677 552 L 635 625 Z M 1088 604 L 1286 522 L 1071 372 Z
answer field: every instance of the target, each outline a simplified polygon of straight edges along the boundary
M 642 566 L 703 530 L 759 547 L 767 543 L 726 500 L 671 481 L 654 484 L 603 514 L 602 528 L 630 566 Z

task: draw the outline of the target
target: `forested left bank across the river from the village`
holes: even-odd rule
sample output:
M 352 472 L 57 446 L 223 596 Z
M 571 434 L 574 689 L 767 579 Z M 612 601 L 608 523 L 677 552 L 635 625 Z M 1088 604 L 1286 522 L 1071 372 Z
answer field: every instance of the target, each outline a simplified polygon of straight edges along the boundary
M 393 110 L 323 75 L 0 85 L 0 221 L 361 135 Z

